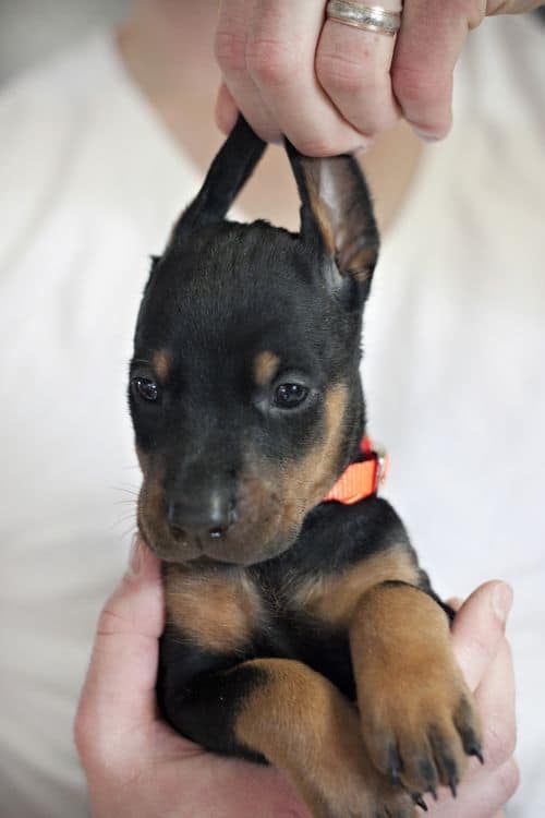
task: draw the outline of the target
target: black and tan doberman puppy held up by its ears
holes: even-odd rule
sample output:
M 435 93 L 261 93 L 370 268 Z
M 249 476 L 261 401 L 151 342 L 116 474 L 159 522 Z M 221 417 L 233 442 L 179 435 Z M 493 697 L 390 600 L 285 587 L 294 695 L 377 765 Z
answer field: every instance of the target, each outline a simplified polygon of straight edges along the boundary
M 264 143 L 240 118 L 155 258 L 130 407 L 138 525 L 164 561 L 158 697 L 215 753 L 287 771 L 315 818 L 408 818 L 481 757 L 449 611 L 372 493 L 362 312 L 378 252 L 349 156 L 287 144 L 301 230 L 225 220 Z M 258 815 L 258 809 L 256 809 Z

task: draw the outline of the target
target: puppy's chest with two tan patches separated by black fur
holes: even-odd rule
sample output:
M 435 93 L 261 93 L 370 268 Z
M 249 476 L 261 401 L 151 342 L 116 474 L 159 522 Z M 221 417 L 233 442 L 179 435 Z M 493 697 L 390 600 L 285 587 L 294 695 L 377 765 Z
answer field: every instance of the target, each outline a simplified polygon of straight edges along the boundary
M 409 557 L 397 549 L 336 572 L 292 566 L 195 572 L 170 565 L 165 569 L 168 621 L 184 641 L 205 650 L 291 654 L 298 645 L 342 639 L 370 587 L 410 580 L 413 574 Z

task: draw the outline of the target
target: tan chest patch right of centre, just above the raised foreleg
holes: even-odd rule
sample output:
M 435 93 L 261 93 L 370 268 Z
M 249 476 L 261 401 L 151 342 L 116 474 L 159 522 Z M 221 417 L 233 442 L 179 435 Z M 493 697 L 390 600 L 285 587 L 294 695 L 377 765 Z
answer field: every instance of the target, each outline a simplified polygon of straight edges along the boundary
M 405 546 L 395 546 L 328 577 L 311 577 L 293 592 L 293 604 L 311 616 L 348 627 L 363 594 L 388 579 L 414 584 L 419 569 Z

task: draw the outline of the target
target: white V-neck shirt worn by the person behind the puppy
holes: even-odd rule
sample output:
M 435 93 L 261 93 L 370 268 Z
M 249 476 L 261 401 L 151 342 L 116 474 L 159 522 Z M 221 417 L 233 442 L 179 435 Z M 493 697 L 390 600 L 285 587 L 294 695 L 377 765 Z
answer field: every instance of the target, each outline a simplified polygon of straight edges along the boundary
M 522 19 L 471 36 L 452 135 L 385 240 L 362 368 L 386 495 L 437 590 L 514 586 L 524 818 L 545 810 L 544 41 Z M 132 333 L 202 179 L 109 35 L 5 87 L 0 144 L 0 815 L 83 818 L 72 720 L 140 483 Z

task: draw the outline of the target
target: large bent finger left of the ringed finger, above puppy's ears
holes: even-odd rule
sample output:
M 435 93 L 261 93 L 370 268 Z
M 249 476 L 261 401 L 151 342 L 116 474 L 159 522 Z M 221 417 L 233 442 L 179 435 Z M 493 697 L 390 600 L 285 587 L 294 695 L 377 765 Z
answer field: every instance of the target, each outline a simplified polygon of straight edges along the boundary
M 323 21 L 323 0 L 225 0 L 216 40 L 227 86 L 253 128 L 268 140 L 286 134 L 310 156 L 366 144 L 316 79 Z

